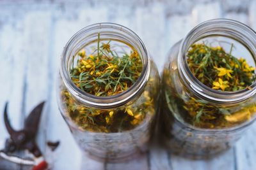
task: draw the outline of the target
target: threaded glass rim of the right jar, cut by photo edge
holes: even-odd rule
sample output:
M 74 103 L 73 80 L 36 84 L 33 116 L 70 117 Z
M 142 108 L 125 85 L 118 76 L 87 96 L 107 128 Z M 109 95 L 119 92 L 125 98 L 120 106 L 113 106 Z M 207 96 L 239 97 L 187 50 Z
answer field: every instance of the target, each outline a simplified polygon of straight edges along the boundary
M 213 19 L 203 22 L 194 27 L 187 36 L 182 40 L 179 48 L 178 69 L 182 80 L 193 92 L 199 97 L 218 104 L 234 104 L 244 101 L 256 92 L 256 82 L 254 81 L 249 88 L 237 90 L 234 92 L 223 92 L 214 90 L 199 81 L 193 73 L 191 73 L 186 53 L 190 46 L 196 41 L 208 36 L 227 36 L 242 43 L 250 53 L 253 60 L 256 60 L 256 32 L 247 25 L 230 19 Z

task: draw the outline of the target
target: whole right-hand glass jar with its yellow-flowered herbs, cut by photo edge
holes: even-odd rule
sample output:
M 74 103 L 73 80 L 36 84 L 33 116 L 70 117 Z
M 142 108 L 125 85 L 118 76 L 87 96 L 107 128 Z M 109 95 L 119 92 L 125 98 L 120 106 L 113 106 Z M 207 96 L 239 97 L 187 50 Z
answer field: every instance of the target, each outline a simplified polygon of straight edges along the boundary
M 206 21 L 170 50 L 163 70 L 162 134 L 173 153 L 223 152 L 256 113 L 256 34 L 227 19 Z

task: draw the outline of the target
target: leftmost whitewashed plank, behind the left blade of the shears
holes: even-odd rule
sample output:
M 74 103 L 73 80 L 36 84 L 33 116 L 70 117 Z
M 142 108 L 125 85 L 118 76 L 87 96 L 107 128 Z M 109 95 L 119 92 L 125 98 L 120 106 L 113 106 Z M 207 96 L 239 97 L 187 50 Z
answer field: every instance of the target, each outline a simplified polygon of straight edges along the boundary
M 6 6 L 0 6 L 0 13 L 5 13 Z M 9 15 L 9 16 L 8 16 Z M 22 22 L 10 24 L 8 15 L 1 15 L 0 20 L 0 149 L 4 147 L 4 141 L 9 138 L 3 121 L 4 104 L 8 101 L 8 115 L 13 128 L 22 128 L 23 116 L 23 89 L 26 62 L 23 53 Z M 0 169 L 17 169 L 19 165 L 10 164 L 0 159 Z

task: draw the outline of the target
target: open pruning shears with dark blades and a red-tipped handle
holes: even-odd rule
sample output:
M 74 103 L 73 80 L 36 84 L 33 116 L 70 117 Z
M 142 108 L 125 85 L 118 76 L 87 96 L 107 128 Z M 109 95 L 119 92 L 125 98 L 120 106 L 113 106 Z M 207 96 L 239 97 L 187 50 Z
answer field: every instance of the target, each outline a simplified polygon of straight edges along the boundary
M 8 118 L 8 103 L 6 103 L 4 108 L 4 124 L 10 134 L 10 138 L 6 139 L 4 149 L 0 150 L 1 157 L 17 164 L 31 165 L 33 166 L 33 170 L 47 169 L 48 164 L 42 156 L 42 152 L 36 145 L 35 140 L 43 108 L 44 102 L 38 104 L 26 118 L 24 129 L 15 131 Z M 20 157 L 9 155 L 17 150 L 28 150 L 34 157 L 33 159 L 22 159 Z

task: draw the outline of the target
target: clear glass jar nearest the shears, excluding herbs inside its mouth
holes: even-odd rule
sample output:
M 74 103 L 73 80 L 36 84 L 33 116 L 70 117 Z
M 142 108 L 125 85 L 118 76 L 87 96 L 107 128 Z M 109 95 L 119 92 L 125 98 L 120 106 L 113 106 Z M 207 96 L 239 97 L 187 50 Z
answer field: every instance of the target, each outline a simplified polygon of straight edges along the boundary
M 94 96 L 79 89 L 70 78 L 73 56 L 97 39 L 114 44 L 122 42 L 122 49 L 129 46 L 140 55 L 143 64 L 140 77 L 120 94 Z M 119 47 L 116 45 L 114 48 Z M 147 48 L 134 32 L 110 23 L 93 24 L 81 29 L 63 50 L 60 75 L 58 105 L 81 150 L 96 159 L 114 162 L 147 150 L 150 129 L 157 112 L 159 73 Z M 114 121 L 113 118 L 119 118 L 115 120 L 118 125 L 109 124 Z M 101 121 L 100 124 L 95 120 Z

